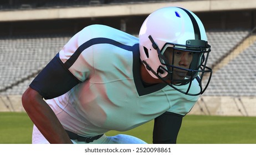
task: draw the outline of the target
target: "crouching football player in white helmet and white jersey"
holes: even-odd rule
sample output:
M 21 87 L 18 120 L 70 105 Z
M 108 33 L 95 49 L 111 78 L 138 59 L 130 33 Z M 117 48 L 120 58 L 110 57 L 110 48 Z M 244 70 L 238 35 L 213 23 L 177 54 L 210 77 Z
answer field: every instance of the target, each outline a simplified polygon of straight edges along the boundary
M 153 143 L 176 143 L 182 117 L 211 79 L 210 51 L 201 20 L 184 8 L 151 13 L 139 38 L 106 25 L 85 27 L 23 94 L 33 143 L 145 143 L 105 133 L 154 119 Z

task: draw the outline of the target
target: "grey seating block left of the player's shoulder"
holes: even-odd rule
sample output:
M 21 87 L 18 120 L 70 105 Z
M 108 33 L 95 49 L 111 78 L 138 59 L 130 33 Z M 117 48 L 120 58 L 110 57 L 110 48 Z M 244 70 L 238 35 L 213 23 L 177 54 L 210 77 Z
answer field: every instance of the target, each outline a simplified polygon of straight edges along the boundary
M 0 39 L 0 94 L 21 95 L 70 36 Z M 2 92 L 1 92 L 2 91 Z

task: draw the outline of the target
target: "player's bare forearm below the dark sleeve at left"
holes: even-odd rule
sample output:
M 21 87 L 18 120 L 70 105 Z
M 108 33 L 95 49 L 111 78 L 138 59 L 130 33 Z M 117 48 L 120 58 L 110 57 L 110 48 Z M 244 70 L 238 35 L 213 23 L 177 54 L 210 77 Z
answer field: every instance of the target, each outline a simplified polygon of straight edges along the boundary
M 37 91 L 30 88 L 25 91 L 22 104 L 35 126 L 50 143 L 71 143 L 57 116 Z

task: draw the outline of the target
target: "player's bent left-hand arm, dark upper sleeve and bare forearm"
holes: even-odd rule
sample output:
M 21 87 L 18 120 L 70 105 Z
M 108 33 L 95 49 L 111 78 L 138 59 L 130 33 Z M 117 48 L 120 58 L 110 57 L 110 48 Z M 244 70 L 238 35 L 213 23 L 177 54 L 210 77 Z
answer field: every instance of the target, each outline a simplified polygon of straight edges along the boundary
M 52 108 L 43 100 L 69 91 L 79 83 L 58 55 L 38 74 L 22 96 L 22 104 L 35 126 L 50 143 L 71 143 Z

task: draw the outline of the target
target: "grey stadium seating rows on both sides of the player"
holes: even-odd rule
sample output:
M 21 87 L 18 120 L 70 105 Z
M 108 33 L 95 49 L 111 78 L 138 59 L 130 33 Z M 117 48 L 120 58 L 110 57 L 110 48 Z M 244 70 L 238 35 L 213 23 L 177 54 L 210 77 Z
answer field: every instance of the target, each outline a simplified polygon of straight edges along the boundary
M 248 33 L 248 30 L 208 32 L 208 41 L 212 45 L 208 65 L 219 63 Z M 71 35 L 49 35 L 0 38 L 0 95 L 21 95 L 34 76 L 62 49 L 70 37 Z M 204 95 L 255 95 L 255 51 L 256 43 L 216 71 Z

